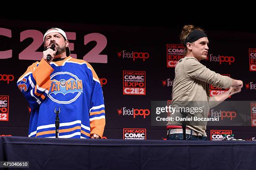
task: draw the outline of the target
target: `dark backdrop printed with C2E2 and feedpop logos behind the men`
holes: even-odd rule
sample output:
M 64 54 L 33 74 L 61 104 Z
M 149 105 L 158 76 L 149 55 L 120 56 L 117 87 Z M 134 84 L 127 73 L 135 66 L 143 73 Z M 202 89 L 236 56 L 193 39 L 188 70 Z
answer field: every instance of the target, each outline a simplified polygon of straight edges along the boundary
M 85 25 L 37 21 L 0 22 L 0 135 L 28 136 L 30 107 L 16 86 L 33 62 L 41 60 L 43 35 L 63 29 L 71 56 L 94 67 L 100 78 L 106 111 L 105 139 L 166 140 L 166 126 L 151 124 L 152 101 L 172 101 L 174 69 L 183 57 L 177 27 Z M 206 30 L 209 44 L 206 67 L 243 80 L 240 93 L 228 101 L 248 101 L 246 125 L 207 126 L 208 140 L 222 134 L 256 140 L 256 34 Z M 228 89 L 210 87 L 210 95 Z M 251 102 L 250 102 L 251 101 Z M 77 106 L 79 107 L 79 106 Z M 244 107 L 244 106 L 243 106 Z M 60 113 L 61 114 L 61 113 Z M 236 121 L 241 111 L 216 110 L 209 115 Z

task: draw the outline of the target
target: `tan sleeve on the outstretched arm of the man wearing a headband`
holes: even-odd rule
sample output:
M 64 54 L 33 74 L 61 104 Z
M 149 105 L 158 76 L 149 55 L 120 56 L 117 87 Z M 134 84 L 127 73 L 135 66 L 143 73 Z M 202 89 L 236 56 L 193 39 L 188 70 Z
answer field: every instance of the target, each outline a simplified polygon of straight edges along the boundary
M 230 77 L 211 71 L 194 59 L 187 59 L 185 61 L 184 71 L 189 78 L 207 82 L 218 88 L 228 88 L 231 85 Z

